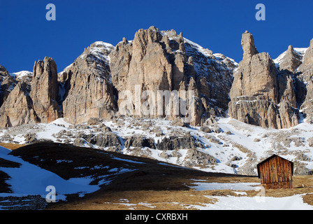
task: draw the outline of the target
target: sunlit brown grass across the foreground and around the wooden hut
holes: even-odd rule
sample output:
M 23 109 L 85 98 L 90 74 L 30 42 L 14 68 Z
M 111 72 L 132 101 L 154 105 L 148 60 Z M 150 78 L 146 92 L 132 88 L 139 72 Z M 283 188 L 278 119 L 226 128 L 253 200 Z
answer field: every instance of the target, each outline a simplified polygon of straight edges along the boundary
M 199 177 L 201 178 L 201 177 Z M 312 176 L 295 176 L 295 183 L 312 183 Z M 205 177 L 208 182 L 258 182 L 254 177 Z M 188 185 L 192 185 L 190 179 L 184 180 Z M 236 190 L 240 192 L 240 190 Z M 61 210 L 182 210 L 194 209 L 193 205 L 204 205 L 214 203 L 217 199 L 205 196 L 225 196 L 254 197 L 260 192 L 246 190 L 247 195 L 237 195 L 233 190 L 108 190 L 96 193 L 84 199 L 76 200 L 66 204 L 50 205 L 48 209 Z M 313 188 L 311 186 L 295 187 L 291 189 L 266 190 L 265 197 L 289 197 L 292 195 L 304 194 L 303 201 L 313 205 Z

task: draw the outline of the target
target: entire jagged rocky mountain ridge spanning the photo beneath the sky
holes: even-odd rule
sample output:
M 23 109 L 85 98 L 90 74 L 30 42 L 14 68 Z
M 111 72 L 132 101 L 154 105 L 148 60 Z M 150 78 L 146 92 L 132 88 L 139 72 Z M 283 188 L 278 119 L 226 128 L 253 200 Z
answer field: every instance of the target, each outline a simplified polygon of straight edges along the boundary
M 0 102 L 0 106 L 6 102 L 8 95 L 17 83 L 26 83 L 25 86 L 28 86 L 24 88 L 26 97 L 30 94 L 27 91 L 33 89 L 33 93 L 30 99 L 27 99 L 29 102 L 27 104 L 14 105 L 13 99 L 17 96 L 8 98 L 11 99 L 11 102 L 6 102 L 7 109 L 4 109 L 5 106 L 0 107 L 0 110 L 2 108 L 3 111 L 0 116 L 0 125 L 10 127 L 14 124 L 45 122 L 45 118 L 50 116 L 52 120 L 68 118 L 71 123 L 84 123 L 89 118 L 106 118 L 112 116 L 113 113 L 132 113 L 130 116 L 145 117 L 142 105 L 138 108 L 138 103 L 144 103 L 143 99 L 133 98 L 126 101 L 125 98 L 122 98 L 124 92 L 130 91 L 129 93 L 135 94 L 135 90 L 139 90 L 140 93 L 169 90 L 172 93 L 173 90 L 177 90 L 178 92 L 194 92 L 194 101 L 189 102 L 188 99 L 178 96 L 180 103 L 191 108 L 190 110 L 177 113 L 174 108 L 164 108 L 163 106 L 162 109 L 157 104 L 150 105 L 151 102 L 149 102 L 148 105 L 152 109 L 152 114 L 149 116 L 175 120 L 177 117 L 185 119 L 187 114 L 192 114 L 191 120 L 187 120 L 187 123 L 201 126 L 206 125 L 208 119 L 225 116 L 225 111 L 228 110 L 232 118 L 248 124 L 278 129 L 292 127 L 298 124 L 300 113 L 304 113 L 306 118 L 312 118 L 312 106 L 308 99 L 311 91 L 308 91 L 310 85 L 307 85 L 310 80 L 310 64 L 312 64 L 310 63 L 313 55 L 310 50 L 313 48 L 312 42 L 309 48 L 293 48 L 289 45 L 288 50 L 276 59 L 272 59 L 270 55 L 263 55 L 256 50 L 252 34 L 246 31 L 245 34 L 242 34 L 244 54 L 242 62 L 238 64 L 225 55 L 213 53 L 211 50 L 189 41 L 182 36 L 182 33 L 178 35 L 173 29 L 160 31 L 153 26 L 149 29 L 140 29 L 132 41 L 123 38 L 116 46 L 96 41 L 85 48 L 75 62 L 68 65 L 64 71 L 52 71 L 52 73 L 57 73 L 57 80 L 54 78 L 54 83 L 57 85 L 48 87 L 48 89 L 50 92 L 59 92 L 59 96 L 41 99 L 47 104 L 41 105 L 45 109 L 39 109 L 37 106 L 36 95 L 41 89 L 34 90 L 34 86 L 31 87 L 34 85 L 32 76 L 36 70 L 36 63 L 33 72 L 11 73 L 10 78 L 6 78 L 6 80 L 10 80 L 9 83 L 12 84 L 1 87 L 4 95 L 1 97 L 3 102 Z M 254 55 L 261 55 L 259 60 L 261 59 L 262 62 L 258 64 L 254 60 L 255 64 L 249 68 L 247 63 Z M 50 60 L 52 64 L 55 64 L 53 59 Z M 265 60 L 268 60 L 269 64 L 275 64 L 275 66 L 271 65 L 272 68 L 264 73 L 263 78 L 265 79 L 259 78 L 258 80 L 259 76 L 255 76 L 255 80 L 252 78 L 247 82 L 253 72 L 256 74 L 263 72 L 266 65 L 264 66 L 262 63 Z M 43 66 L 47 66 L 48 63 L 50 62 L 45 62 Z M 246 68 L 240 71 L 238 70 L 240 66 L 246 66 Z M 8 77 L 6 69 L 2 70 L 4 76 L 1 77 Z M 54 70 L 57 70 L 56 67 Z M 238 72 L 247 74 L 242 76 L 244 77 L 242 83 L 245 83 L 246 87 L 238 84 L 238 79 L 235 78 L 235 73 Z M 41 76 L 44 79 L 43 71 L 41 71 Z M 254 75 L 252 76 L 254 77 Z M 233 80 L 234 78 L 235 80 Z M 267 80 L 268 78 L 270 79 Z M 2 79 L 4 80 L 4 78 Z M 267 80 L 267 83 L 261 85 L 262 79 Z M 259 83 L 257 84 L 259 87 L 255 87 L 256 83 Z M 37 85 L 45 86 L 42 82 Z M 136 89 L 136 85 L 138 85 L 138 89 Z M 236 87 L 241 93 L 234 92 Z M 249 93 L 242 92 L 248 89 L 250 89 Z M 94 90 L 96 90 L 96 94 L 92 93 Z M 272 91 L 270 95 L 264 94 L 270 91 Z M 255 95 L 259 95 L 259 97 L 255 98 Z M 245 98 L 244 101 L 242 101 L 243 98 L 239 99 L 240 96 Z M 136 95 L 132 97 L 136 97 Z M 235 99 L 235 97 L 239 98 Z M 307 99 L 305 100 L 305 98 Z M 263 102 L 259 101 L 260 104 L 256 104 L 255 99 L 261 99 Z M 50 104 L 57 102 L 52 109 L 55 112 L 47 111 L 51 106 L 48 102 Z M 123 108 L 124 104 L 121 104 L 125 102 L 130 107 L 126 111 Z M 10 107 L 16 109 L 10 109 Z M 10 113 L 14 114 L 14 110 L 27 111 L 29 110 L 27 108 L 32 109 L 34 115 L 10 118 Z M 8 113 L 8 111 L 11 112 Z M 131 111 L 136 111 L 136 114 Z M 148 112 L 151 113 L 151 111 Z M 267 113 L 267 115 L 261 115 L 262 113 Z M 11 123 L 10 120 L 17 121 Z

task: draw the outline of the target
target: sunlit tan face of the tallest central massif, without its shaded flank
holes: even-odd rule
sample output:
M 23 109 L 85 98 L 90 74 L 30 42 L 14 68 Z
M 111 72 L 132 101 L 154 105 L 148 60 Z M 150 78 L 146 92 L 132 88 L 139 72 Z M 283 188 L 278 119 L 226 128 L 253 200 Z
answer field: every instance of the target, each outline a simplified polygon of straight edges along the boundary
M 120 113 L 123 113 L 121 103 L 125 102 L 126 97 L 123 92 L 129 91 L 133 96 L 133 109 L 127 109 L 130 115 L 175 118 L 175 115 L 166 112 L 166 105 L 162 104 L 158 108 L 156 101 L 151 102 L 154 111 L 145 112 L 142 108 L 145 100 L 141 99 L 145 90 L 152 91 L 156 99 L 158 90 L 171 92 L 180 89 L 187 58 L 183 52 L 182 34 L 177 36 L 174 32 L 170 41 L 168 35 L 162 35 L 155 27 L 140 29 L 133 41 L 124 39 L 110 54 L 112 83 L 119 92 Z

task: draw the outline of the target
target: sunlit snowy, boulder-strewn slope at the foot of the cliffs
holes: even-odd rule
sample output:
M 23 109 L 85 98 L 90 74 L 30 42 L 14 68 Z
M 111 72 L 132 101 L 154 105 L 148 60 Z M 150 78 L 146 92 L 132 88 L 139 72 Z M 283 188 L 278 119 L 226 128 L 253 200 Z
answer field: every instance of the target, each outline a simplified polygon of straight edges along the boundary
M 206 172 L 247 175 L 256 175 L 256 165 L 275 153 L 295 162 L 295 174 L 312 173 L 313 125 L 301 122 L 289 129 L 272 130 L 247 125 L 232 118 L 221 118 L 217 125 L 219 131 L 206 133 L 199 127 L 173 126 L 170 121 L 163 119 L 113 118 L 98 125 L 71 125 L 61 118 L 50 124 L 22 125 L 1 130 L 0 141 L 26 144 L 32 134 L 33 141 L 49 139 L 154 158 Z M 161 148 L 160 142 L 164 138 L 184 140 L 189 136 L 196 148 Z M 109 138 L 112 144 L 98 144 L 96 140 L 100 140 L 97 137 L 102 138 L 101 141 Z M 126 145 L 130 137 L 153 139 L 154 146 Z M 190 141 L 190 138 L 187 140 Z

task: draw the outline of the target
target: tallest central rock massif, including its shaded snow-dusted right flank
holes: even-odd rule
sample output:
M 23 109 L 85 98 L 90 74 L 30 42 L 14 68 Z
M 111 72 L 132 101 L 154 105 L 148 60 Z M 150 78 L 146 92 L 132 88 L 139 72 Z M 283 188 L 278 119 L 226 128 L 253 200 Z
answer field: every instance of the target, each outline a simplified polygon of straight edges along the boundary
M 110 54 L 112 83 L 120 93 L 129 91 L 136 94 L 145 90 L 169 92 L 193 90 L 195 107 L 191 125 L 201 125 L 210 116 L 221 115 L 227 109 L 228 92 L 231 88 L 232 71 L 235 62 L 224 55 L 216 57 L 212 51 L 184 38 L 176 31 L 159 31 L 155 27 L 140 29 L 133 41 L 125 38 Z M 119 94 L 118 106 L 124 102 Z M 182 97 L 181 97 L 182 99 Z M 138 102 L 139 101 L 139 102 Z M 133 111 L 136 116 L 147 116 L 138 109 L 141 99 L 134 97 Z M 188 100 L 185 101 L 189 108 Z M 181 114 L 162 113 L 149 116 L 165 116 L 173 120 Z M 155 108 L 159 111 L 160 108 Z M 139 111 L 139 112 L 138 112 Z

